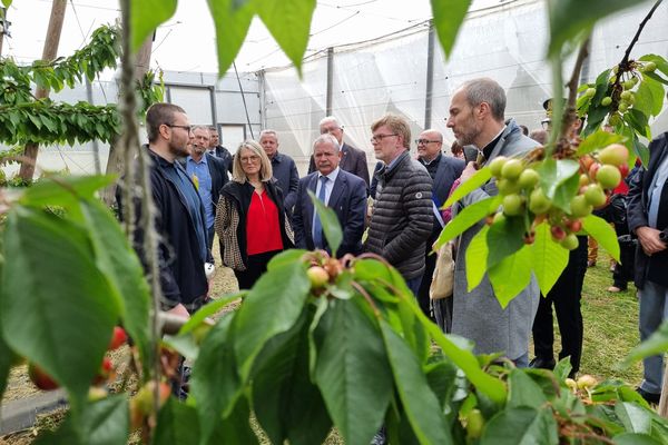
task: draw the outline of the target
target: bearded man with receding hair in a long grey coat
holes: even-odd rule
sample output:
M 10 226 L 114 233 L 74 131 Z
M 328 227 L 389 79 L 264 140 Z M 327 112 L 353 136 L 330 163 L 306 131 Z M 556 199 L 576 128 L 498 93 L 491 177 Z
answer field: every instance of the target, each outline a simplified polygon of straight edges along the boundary
M 522 134 L 514 120 L 504 121 L 504 110 L 505 92 L 489 78 L 465 82 L 452 97 L 448 127 L 459 144 L 472 145 L 479 151 L 478 159 L 469 161 L 464 168 L 462 182 L 497 156 L 518 156 L 537 146 L 536 141 Z M 492 179 L 453 206 L 453 212 L 456 215 L 464 207 L 498 192 Z M 483 225 L 484 220 L 479 221 L 464 231 L 458 241 L 452 334 L 473 340 L 477 354 L 502 353 L 515 365 L 527 366 L 529 337 L 540 297 L 536 279 L 532 278 L 530 285 L 505 309 L 497 300 L 487 274 L 478 287 L 466 291 L 465 250 Z

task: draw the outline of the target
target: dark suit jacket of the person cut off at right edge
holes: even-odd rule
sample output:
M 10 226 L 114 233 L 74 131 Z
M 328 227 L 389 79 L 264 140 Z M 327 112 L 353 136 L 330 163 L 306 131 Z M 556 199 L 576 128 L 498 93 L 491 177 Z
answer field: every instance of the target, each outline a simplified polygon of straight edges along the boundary
M 649 226 L 649 186 L 661 161 L 668 156 L 668 132 L 662 134 L 649 144 L 649 164 L 647 169 L 642 168 L 629 185 L 628 197 L 628 224 L 629 230 L 635 234 L 636 229 Z M 659 212 L 657 227 L 659 230 L 668 229 L 668 184 L 664 185 L 659 200 Z M 646 280 L 668 286 L 668 249 L 648 257 L 642 247 L 636 249 L 635 281 L 642 289 Z

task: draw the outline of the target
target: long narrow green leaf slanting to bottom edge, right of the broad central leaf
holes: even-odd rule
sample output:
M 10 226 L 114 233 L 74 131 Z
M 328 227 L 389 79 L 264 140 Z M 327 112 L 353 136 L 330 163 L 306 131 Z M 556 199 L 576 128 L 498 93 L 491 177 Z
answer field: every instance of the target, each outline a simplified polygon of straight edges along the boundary
M 406 343 L 381 319 L 381 332 L 390 358 L 394 383 L 413 434 L 423 444 L 452 444 L 450 428 L 441 414 L 420 362 Z

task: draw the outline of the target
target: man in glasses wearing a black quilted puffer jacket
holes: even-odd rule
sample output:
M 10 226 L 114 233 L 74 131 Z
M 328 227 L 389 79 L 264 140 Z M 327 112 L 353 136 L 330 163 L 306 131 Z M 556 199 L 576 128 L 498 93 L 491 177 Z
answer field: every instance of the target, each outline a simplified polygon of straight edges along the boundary
M 432 231 L 432 179 L 409 154 L 411 128 L 403 118 L 386 115 L 371 130 L 375 156 L 385 166 L 376 172 L 376 200 L 365 249 L 384 257 L 418 294 L 425 243 Z

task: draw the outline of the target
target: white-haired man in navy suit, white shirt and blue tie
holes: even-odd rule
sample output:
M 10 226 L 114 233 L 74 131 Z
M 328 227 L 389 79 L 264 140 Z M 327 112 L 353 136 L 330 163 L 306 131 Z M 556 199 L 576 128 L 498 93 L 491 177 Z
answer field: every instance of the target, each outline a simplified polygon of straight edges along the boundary
M 362 253 L 362 234 L 366 216 L 366 185 L 353 174 L 340 168 L 341 146 L 331 135 L 321 135 L 313 142 L 317 171 L 299 179 L 297 201 L 293 215 L 295 246 L 302 249 L 326 249 L 332 253 L 314 211 L 311 190 L 334 210 L 343 229 L 343 240 L 336 256 Z

